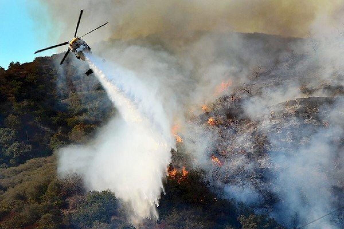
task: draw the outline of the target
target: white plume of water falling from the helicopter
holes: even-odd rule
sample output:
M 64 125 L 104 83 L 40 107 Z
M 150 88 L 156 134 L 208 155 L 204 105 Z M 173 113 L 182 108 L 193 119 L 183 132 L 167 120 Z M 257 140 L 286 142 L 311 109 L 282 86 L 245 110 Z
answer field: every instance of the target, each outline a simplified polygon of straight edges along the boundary
M 87 60 L 120 117 L 100 129 L 91 144 L 61 149 L 58 172 L 82 175 L 90 190 L 111 190 L 130 204 L 133 220 L 158 218 L 155 206 L 174 147 L 167 116 L 133 72 L 92 55 Z

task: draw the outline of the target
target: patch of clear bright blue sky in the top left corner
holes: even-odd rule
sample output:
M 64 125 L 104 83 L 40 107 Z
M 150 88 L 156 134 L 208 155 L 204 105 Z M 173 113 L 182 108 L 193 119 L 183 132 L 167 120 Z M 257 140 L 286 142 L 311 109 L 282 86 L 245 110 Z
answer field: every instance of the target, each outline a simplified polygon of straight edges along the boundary
M 11 61 L 30 62 L 38 56 L 36 50 L 54 45 L 59 34 L 51 38 L 53 24 L 49 20 L 46 8 L 36 0 L 0 0 L 0 66 L 7 69 Z M 50 56 L 55 51 L 47 50 L 39 56 Z

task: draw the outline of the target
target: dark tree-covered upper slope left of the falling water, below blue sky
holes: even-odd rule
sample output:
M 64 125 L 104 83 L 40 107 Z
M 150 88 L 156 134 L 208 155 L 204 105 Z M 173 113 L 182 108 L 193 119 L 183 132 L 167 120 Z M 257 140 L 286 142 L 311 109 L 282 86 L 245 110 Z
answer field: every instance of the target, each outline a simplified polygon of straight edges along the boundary
M 86 141 L 114 111 L 95 78 L 82 73 L 87 66 L 67 61 L 58 69 L 55 57 L 0 70 L 1 168 Z

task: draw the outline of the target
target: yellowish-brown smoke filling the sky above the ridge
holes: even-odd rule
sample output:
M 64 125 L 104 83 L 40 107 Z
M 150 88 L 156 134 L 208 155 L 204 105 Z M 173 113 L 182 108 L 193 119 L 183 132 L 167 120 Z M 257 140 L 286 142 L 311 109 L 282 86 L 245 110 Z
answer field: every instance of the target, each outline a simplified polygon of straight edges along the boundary
M 285 0 L 283 3 L 274 0 L 77 0 L 73 4 L 62 0 L 41 3 L 47 5 L 50 15 L 61 26 L 63 41 L 66 35 L 74 34 L 80 9 L 85 11 L 79 35 L 110 21 L 101 35 L 90 35 L 89 42 L 99 38 L 131 39 L 150 35 L 180 41 L 198 31 L 214 30 L 305 37 L 315 20 L 336 24 L 338 10 L 344 5 L 340 0 Z

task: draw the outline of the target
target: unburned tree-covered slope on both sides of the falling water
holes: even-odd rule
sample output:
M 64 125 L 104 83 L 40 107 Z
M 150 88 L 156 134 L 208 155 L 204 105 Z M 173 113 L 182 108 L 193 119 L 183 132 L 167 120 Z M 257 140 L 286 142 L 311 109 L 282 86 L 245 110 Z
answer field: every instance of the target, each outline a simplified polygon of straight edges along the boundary
M 91 139 L 116 111 L 87 66 L 52 57 L 0 69 L 0 227 L 134 228 L 110 191 L 87 191 L 75 174 L 59 178 L 54 150 Z M 79 66 L 79 65 L 78 65 Z M 58 75 L 63 76 L 58 77 Z M 243 204 L 219 199 L 204 171 L 165 181 L 157 222 L 138 228 L 282 228 Z

